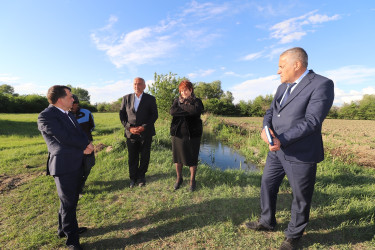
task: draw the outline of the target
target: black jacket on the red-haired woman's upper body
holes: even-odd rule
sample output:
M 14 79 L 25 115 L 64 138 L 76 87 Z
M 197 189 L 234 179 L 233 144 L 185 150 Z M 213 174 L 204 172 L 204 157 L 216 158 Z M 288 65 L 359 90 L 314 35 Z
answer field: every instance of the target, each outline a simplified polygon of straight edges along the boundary
M 203 103 L 199 98 L 194 98 L 189 104 L 180 103 L 176 98 L 173 101 L 169 113 L 173 116 L 170 133 L 176 136 L 182 123 L 186 123 L 189 137 L 201 137 L 203 133 L 202 120 L 200 115 L 204 110 Z

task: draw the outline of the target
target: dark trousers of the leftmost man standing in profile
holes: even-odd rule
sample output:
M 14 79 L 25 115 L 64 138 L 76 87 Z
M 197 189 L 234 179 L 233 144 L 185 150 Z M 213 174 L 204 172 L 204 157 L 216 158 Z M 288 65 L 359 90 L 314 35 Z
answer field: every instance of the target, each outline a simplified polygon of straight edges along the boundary
M 58 234 L 67 236 L 66 245 L 79 243 L 77 203 L 82 182 L 82 169 L 65 175 L 54 176 L 60 198 Z

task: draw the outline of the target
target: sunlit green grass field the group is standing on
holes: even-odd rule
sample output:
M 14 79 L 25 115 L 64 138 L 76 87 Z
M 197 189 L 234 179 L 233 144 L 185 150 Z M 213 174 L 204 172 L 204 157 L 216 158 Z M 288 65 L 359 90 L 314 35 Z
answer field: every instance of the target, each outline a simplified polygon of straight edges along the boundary
M 277 249 L 281 244 L 290 218 L 287 181 L 280 189 L 277 230 L 248 231 L 242 224 L 259 214 L 261 172 L 221 172 L 199 165 L 197 191 L 188 192 L 188 181 L 173 191 L 169 122 L 159 119 L 147 186 L 129 189 L 118 114 L 94 116 L 97 164 L 78 204 L 78 222 L 89 227 L 81 237 L 84 248 Z M 0 114 L 0 249 L 64 248 L 64 240 L 56 236 L 59 201 L 53 178 L 44 174 L 46 146 L 36 119 L 37 114 Z M 262 167 L 267 147 L 259 139 L 261 119 L 221 119 L 208 117 L 205 128 L 214 129 Z M 356 128 L 364 121 L 351 122 L 349 128 Z M 356 157 L 357 151 L 342 152 L 362 145 L 361 136 L 352 138 L 347 130 L 340 134 L 342 124 L 324 124 L 327 157 L 318 164 L 310 224 L 301 242 L 304 249 L 375 249 L 375 170 L 357 161 L 363 158 Z M 371 149 L 375 137 L 371 130 L 364 131 Z M 338 144 L 330 137 L 340 142 L 346 138 L 339 146 L 343 149 L 332 153 Z M 109 146 L 112 150 L 107 152 Z M 185 180 L 188 176 L 185 167 Z

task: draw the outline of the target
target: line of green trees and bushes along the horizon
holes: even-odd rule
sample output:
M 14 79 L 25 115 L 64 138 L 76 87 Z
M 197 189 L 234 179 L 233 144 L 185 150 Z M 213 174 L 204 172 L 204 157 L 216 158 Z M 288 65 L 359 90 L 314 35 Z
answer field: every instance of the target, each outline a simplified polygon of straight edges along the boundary
M 178 85 L 185 77 L 176 74 L 154 74 L 154 82 L 148 92 L 155 96 L 159 115 L 167 116 L 172 101 L 178 97 Z M 92 105 L 89 92 L 73 87 L 80 106 L 92 112 L 118 112 L 121 107 L 120 97 L 115 102 L 102 102 Z M 230 91 L 223 91 L 221 81 L 194 83 L 194 94 L 203 102 L 205 112 L 222 116 L 262 117 L 273 101 L 273 95 L 257 96 L 254 100 L 233 103 Z M 47 98 L 41 95 L 18 95 L 10 85 L 0 85 L 0 113 L 38 113 L 48 106 Z M 364 95 L 360 101 L 345 103 L 341 107 L 333 106 L 328 114 L 332 119 L 375 120 L 375 95 Z

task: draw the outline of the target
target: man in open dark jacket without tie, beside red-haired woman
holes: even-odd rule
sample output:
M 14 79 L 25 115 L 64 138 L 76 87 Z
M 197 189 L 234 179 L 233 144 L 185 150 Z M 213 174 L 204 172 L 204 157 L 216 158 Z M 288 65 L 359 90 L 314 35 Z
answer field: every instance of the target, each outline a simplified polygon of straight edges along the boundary
M 146 185 L 145 174 L 150 161 L 152 136 L 155 135 L 154 123 L 158 119 L 155 97 L 143 92 L 145 80 L 137 77 L 133 86 L 134 94 L 122 98 L 120 110 L 120 120 L 127 138 L 130 188 L 137 181 L 139 186 Z

